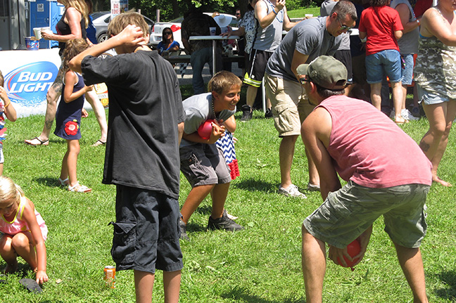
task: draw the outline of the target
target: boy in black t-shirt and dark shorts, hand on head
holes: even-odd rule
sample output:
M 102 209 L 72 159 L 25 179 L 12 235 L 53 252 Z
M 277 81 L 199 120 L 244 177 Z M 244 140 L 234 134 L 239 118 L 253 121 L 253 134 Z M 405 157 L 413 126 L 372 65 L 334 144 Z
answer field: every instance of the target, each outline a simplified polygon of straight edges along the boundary
M 185 113 L 170 63 L 146 46 L 148 25 L 124 13 L 108 26 L 110 39 L 70 61 L 84 82 L 105 82 L 109 94 L 103 183 L 115 184 L 116 221 L 111 254 L 118 270 L 134 269 L 137 302 L 151 302 L 156 269 L 165 301 L 178 302 L 179 142 Z M 118 56 L 96 58 L 109 49 Z

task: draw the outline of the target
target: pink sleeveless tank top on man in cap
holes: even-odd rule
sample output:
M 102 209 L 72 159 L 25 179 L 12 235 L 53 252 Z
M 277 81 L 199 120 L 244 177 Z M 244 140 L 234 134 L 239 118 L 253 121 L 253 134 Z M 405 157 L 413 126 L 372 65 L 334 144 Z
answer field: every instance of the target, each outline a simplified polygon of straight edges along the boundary
M 431 185 L 431 162 L 383 112 L 346 96 L 327 98 L 319 107 L 331 114 L 328 152 L 342 179 L 369 188 Z

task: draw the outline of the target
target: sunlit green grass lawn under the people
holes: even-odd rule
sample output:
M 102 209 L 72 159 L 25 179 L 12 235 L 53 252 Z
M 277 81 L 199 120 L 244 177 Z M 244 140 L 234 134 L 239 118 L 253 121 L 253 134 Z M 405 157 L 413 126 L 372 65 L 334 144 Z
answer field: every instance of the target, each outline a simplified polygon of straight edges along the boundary
M 240 117 L 238 112 L 236 118 Z M 239 122 L 236 131 L 241 176 L 232 182 L 226 208 L 239 217 L 236 221 L 246 230 L 206 231 L 210 200 L 203 201 L 189 222 L 191 241 L 181 243 L 181 302 L 305 302 L 300 226 L 322 200 L 319 193 L 308 193 L 307 200 L 277 194 L 279 138 L 272 120 L 262 117 L 255 112 L 253 120 Z M 39 133 L 43 120 L 42 116 L 33 116 L 7 122 L 4 174 L 23 187 L 46 220 L 50 280 L 41 295 L 28 293 L 18 280 L 34 275 L 20 259 L 20 271 L 0 284 L 0 302 L 134 302 L 132 271 L 117 273 L 115 289 L 103 283 L 103 267 L 113 265 L 113 228 L 108 223 L 115 219 L 115 187 L 101 183 L 105 148 L 90 146 L 99 138 L 94 113 L 82 120 L 78 161 L 78 179 L 93 188 L 89 194 L 70 193 L 58 186 L 64 140 L 52 135 L 49 146 L 37 148 L 23 143 Z M 427 121 L 420 120 L 403 129 L 418 141 L 427 127 Z M 455 143 L 453 131 L 440 175 L 456 185 Z M 300 188 L 308 182 L 302 141 L 296 144 L 292 179 Z M 184 177 L 181 181 L 182 205 L 190 187 Z M 431 187 L 429 229 L 422 244 L 430 302 L 456 302 L 454 202 L 454 188 Z M 0 269 L 4 266 L 1 260 Z M 153 302 L 163 302 L 162 281 L 158 272 Z M 328 263 L 324 302 L 412 302 L 382 220 L 374 224 L 365 259 L 355 271 Z

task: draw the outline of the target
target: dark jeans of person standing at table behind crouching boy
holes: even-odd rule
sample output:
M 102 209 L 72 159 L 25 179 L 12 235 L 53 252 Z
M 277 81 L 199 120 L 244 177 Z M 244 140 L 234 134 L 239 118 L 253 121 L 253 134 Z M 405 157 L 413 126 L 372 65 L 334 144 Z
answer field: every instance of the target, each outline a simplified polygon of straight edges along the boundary
M 218 48 L 215 49 L 215 58 L 215 70 L 218 72 L 222 67 L 222 53 Z M 194 88 L 194 94 L 203 94 L 206 92 L 203 80 L 203 67 L 206 63 L 209 64 L 210 75 L 213 75 L 212 47 L 206 47 L 191 53 L 190 64 L 193 72 L 191 84 Z

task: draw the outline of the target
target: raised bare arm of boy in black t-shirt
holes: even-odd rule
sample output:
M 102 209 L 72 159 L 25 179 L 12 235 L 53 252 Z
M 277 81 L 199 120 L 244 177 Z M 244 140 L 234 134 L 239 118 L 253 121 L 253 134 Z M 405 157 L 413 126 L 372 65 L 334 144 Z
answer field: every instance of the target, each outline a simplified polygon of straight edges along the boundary
M 115 49 L 118 46 L 139 46 L 144 44 L 145 41 L 146 37 L 143 36 L 141 27 L 128 25 L 124 30 L 122 30 L 122 32 L 120 32 L 120 34 L 117 34 L 100 44 L 96 44 L 94 47 L 86 49 L 79 55 L 75 56 L 75 58 L 72 58 L 69 63 L 70 69 L 75 72 L 82 72 L 82 59 L 87 56 L 100 56 L 102 53 L 110 49 Z

